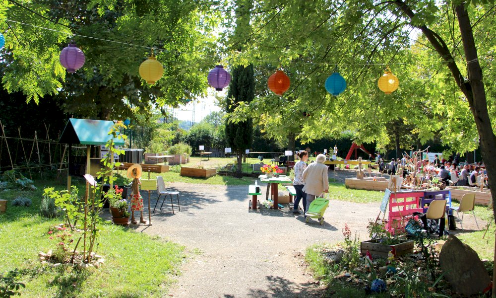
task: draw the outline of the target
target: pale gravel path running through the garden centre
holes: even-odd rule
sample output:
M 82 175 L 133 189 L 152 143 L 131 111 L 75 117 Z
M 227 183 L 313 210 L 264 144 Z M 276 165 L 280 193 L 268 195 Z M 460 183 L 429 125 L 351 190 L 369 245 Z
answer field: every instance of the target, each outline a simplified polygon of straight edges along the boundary
M 174 183 L 174 189 L 181 192 L 181 211 L 175 203 L 173 215 L 166 201 L 162 212 L 157 207 L 152 226 L 136 230 L 201 250 L 183 266 L 171 290 L 171 296 L 185 298 L 305 297 L 314 289 L 302 264 L 305 248 L 342 241 L 345 223 L 365 235 L 364 223 L 380 205 L 331 201 L 323 225 L 306 224 L 289 211 L 248 212 L 247 186 Z M 142 195 L 146 205 L 148 195 Z M 156 197 L 152 194 L 152 209 Z

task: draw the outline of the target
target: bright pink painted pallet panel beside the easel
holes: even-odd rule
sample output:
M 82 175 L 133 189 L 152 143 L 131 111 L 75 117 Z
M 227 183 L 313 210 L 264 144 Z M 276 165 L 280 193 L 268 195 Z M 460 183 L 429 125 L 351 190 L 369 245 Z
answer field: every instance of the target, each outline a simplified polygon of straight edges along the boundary
M 414 212 L 423 212 L 420 202 L 424 192 L 391 193 L 386 230 L 392 235 L 404 233 L 405 225 Z

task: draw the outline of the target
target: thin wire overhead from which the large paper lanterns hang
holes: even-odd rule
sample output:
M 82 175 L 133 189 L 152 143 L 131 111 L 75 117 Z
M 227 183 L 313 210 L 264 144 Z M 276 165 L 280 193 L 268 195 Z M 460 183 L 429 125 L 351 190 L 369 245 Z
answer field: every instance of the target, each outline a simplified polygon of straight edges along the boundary
M 167 52 L 167 53 L 175 52 L 177 54 L 183 54 L 182 52 L 179 52 L 179 51 L 171 51 L 171 50 L 161 49 L 161 48 L 157 48 L 157 47 L 147 47 L 147 46 L 142 46 L 142 45 L 127 43 L 127 42 L 122 42 L 122 41 L 108 40 L 108 39 L 99 38 L 99 37 L 93 37 L 93 36 L 87 36 L 87 35 L 81 35 L 81 34 L 75 34 L 75 33 L 68 33 L 68 32 L 63 32 L 63 31 L 56 30 L 56 29 L 51 29 L 51 28 L 46 28 L 46 27 L 42 27 L 42 26 L 38 26 L 38 25 L 33 25 L 33 24 L 23 23 L 23 22 L 19 22 L 19 21 L 14 21 L 14 20 L 11 20 L 11 19 L 5 19 L 5 20 L 8 21 L 8 22 L 18 23 L 18 24 L 22 24 L 22 25 L 26 25 L 26 26 L 31 26 L 31 27 L 39 28 L 39 29 L 44 29 L 44 30 L 59 32 L 59 33 L 62 33 L 62 34 L 66 34 L 68 36 L 79 36 L 79 37 L 83 37 L 83 38 L 89 38 L 89 39 L 95 39 L 95 40 L 100 40 L 100 41 L 112 42 L 112 43 L 122 44 L 122 45 L 126 45 L 126 46 L 131 46 L 131 47 L 138 47 L 138 48 L 144 48 L 144 49 L 149 49 L 149 50 L 159 50 L 159 51 L 164 51 L 164 52 Z M 17 36 L 16 36 L 16 38 L 17 38 Z M 207 55 L 207 54 L 202 54 L 202 55 L 205 56 L 205 57 L 218 58 L 218 56 L 214 56 L 214 55 Z M 271 61 L 271 60 L 261 60 L 261 59 L 250 59 L 250 61 L 257 61 L 257 62 L 262 62 L 262 63 L 276 63 L 276 64 L 281 64 L 281 61 L 276 61 L 276 60 L 272 60 Z M 467 64 L 475 63 L 477 61 L 479 61 L 479 60 L 477 58 L 475 58 L 473 60 L 467 61 Z M 442 61 L 442 62 L 456 62 L 456 61 L 452 60 L 452 61 Z M 293 61 L 291 61 L 291 62 L 287 62 L 287 63 L 288 64 L 302 64 L 302 65 L 330 65 L 330 66 L 337 66 L 336 63 L 326 63 L 326 62 L 315 63 L 315 62 L 293 62 Z M 386 66 L 386 65 L 407 65 L 407 64 L 411 64 L 411 63 L 340 63 L 339 65 L 340 66 L 353 66 L 353 65 L 357 65 L 357 66 L 384 65 L 384 66 Z

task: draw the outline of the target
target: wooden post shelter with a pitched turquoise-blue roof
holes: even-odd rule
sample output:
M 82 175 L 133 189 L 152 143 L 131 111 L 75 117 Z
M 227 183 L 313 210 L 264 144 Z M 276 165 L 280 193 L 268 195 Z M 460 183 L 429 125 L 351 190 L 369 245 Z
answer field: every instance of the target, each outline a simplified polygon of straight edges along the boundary
M 114 126 L 114 122 L 107 120 L 91 120 L 91 119 L 76 119 L 71 118 L 65 126 L 62 136 L 59 140 L 60 144 L 69 145 L 68 159 L 70 162 L 72 144 L 86 145 L 86 174 L 90 174 L 91 168 L 91 146 L 100 146 L 107 144 L 111 139 L 109 135 L 110 129 Z M 114 139 L 116 146 L 124 146 L 124 140 Z M 95 158 L 100 160 L 101 157 Z M 69 164 L 70 166 L 70 164 Z M 67 171 L 67 190 L 70 191 L 70 173 Z M 89 184 L 86 183 L 86 191 L 89 189 Z M 87 192 L 88 193 L 88 192 Z

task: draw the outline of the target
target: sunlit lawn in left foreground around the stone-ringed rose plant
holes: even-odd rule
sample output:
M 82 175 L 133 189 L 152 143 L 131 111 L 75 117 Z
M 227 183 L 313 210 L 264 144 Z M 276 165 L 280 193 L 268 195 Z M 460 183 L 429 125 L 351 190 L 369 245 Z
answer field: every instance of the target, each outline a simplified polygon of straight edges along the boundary
M 112 224 L 100 225 L 97 253 L 105 258 L 101 268 L 80 271 L 42 267 L 37 254 L 56 245 L 47 232 L 50 226 L 62 221 L 38 215 L 44 183 L 36 183 L 36 186 L 37 191 L 0 193 L 0 198 L 8 199 L 7 212 L 0 215 L 0 272 L 22 270 L 21 282 L 26 284 L 23 297 L 167 295 L 178 274 L 177 266 L 186 257 L 184 247 Z M 79 189 L 83 189 L 82 185 Z M 30 198 L 33 205 L 29 208 L 11 206 L 11 199 L 19 195 Z

